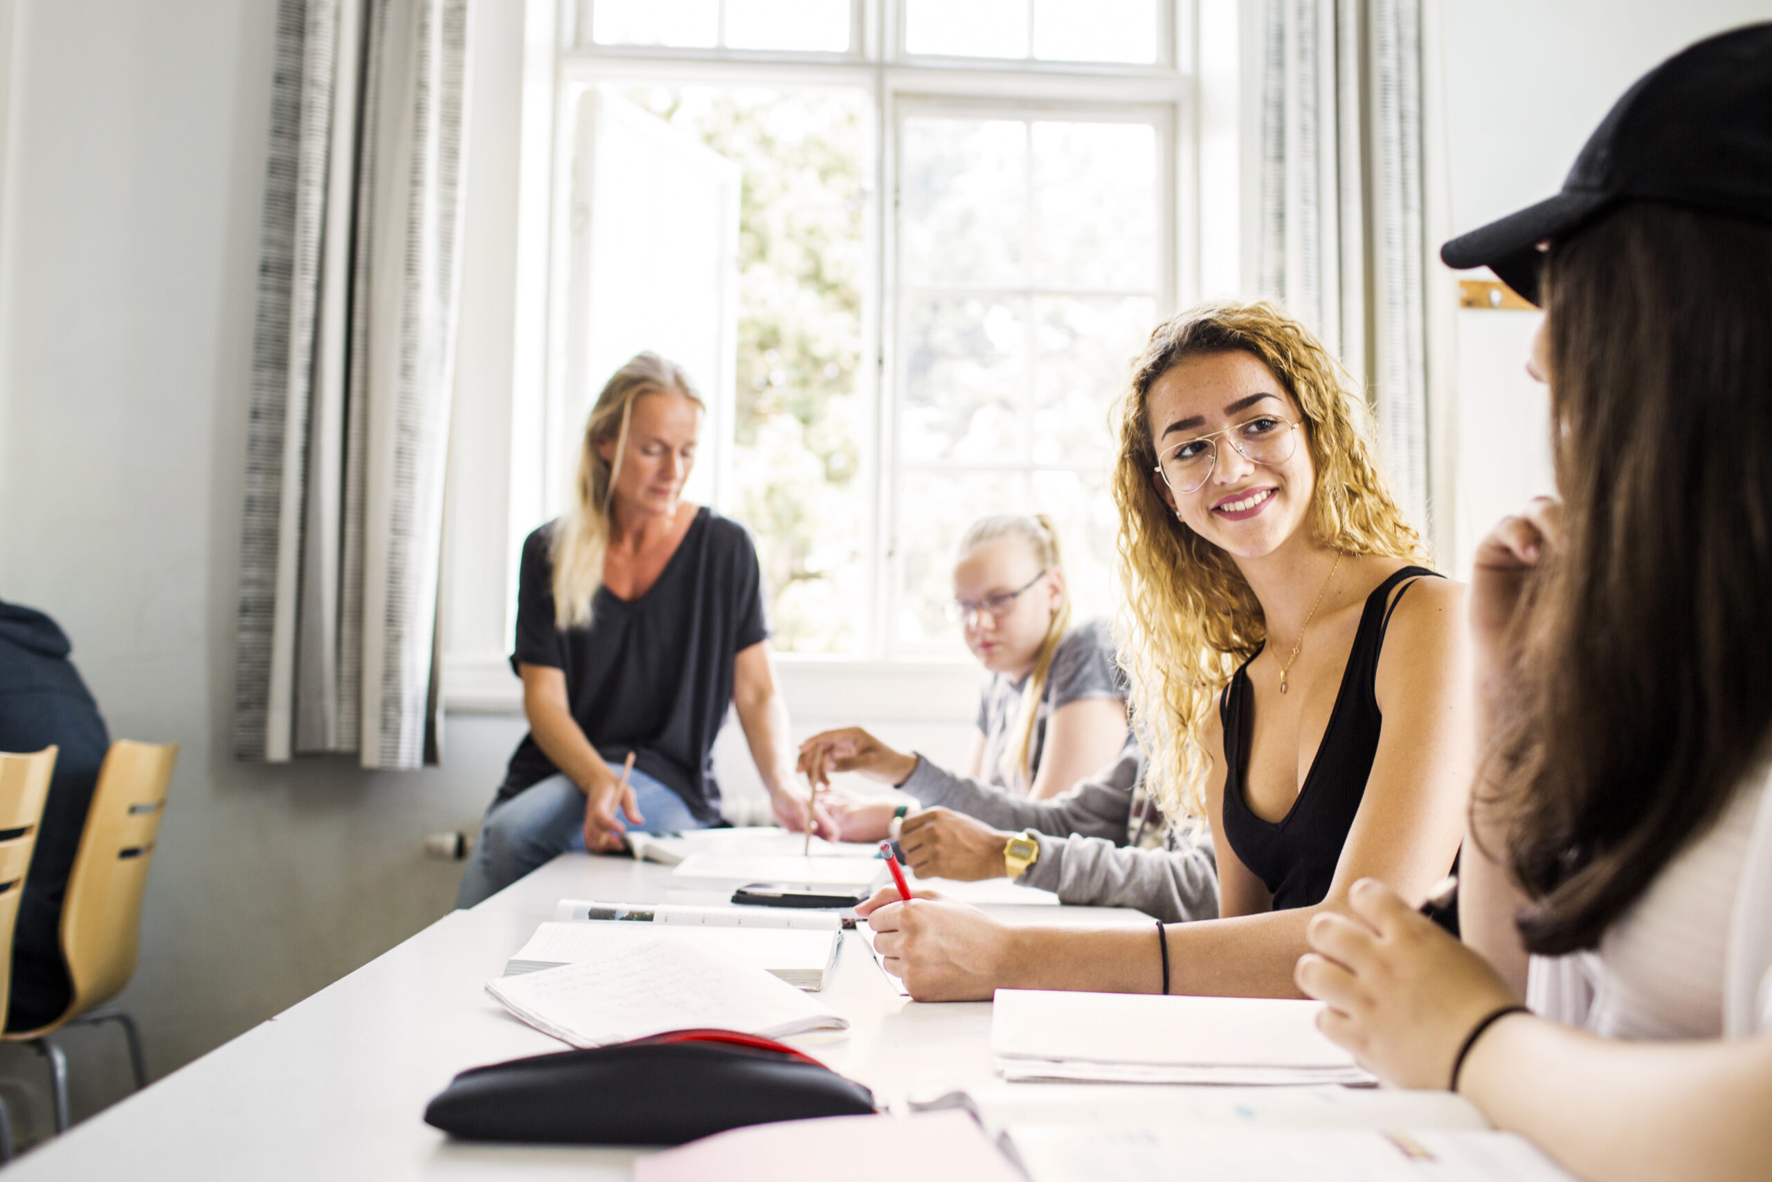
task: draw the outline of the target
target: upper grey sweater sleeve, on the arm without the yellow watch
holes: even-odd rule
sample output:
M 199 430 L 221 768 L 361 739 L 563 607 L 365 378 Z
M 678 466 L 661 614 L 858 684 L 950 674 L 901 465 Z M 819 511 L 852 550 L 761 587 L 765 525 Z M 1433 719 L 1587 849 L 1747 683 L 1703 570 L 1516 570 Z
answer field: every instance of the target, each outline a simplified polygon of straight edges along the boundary
M 1127 817 L 1132 813 L 1132 785 L 1138 783 L 1141 766 L 1138 744 L 1129 743 L 1120 758 L 1070 792 L 1030 801 L 1026 796 L 969 776 L 955 776 L 918 757 L 916 769 L 898 787 L 914 796 L 923 808 L 952 808 L 998 829 L 1033 829 L 1054 836 L 1081 833 L 1123 845 Z

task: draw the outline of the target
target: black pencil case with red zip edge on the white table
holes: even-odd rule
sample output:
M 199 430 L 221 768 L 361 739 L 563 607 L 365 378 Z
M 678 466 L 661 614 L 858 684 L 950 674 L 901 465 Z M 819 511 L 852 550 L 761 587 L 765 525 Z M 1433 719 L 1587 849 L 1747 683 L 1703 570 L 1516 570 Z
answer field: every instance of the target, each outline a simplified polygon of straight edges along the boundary
M 727 1129 L 874 1111 L 874 1093 L 771 1038 L 679 1030 L 473 1067 L 425 1106 L 470 1141 L 682 1145 Z

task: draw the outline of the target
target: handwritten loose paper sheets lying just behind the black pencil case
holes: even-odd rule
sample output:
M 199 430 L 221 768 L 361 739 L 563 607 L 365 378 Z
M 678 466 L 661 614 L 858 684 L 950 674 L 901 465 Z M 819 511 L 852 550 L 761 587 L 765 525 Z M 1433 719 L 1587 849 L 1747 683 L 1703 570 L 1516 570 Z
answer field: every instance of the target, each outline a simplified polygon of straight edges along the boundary
M 769 973 L 680 939 L 611 937 L 592 960 L 503 976 L 486 991 L 535 1030 L 574 1047 L 703 1026 L 766 1038 L 849 1028 Z

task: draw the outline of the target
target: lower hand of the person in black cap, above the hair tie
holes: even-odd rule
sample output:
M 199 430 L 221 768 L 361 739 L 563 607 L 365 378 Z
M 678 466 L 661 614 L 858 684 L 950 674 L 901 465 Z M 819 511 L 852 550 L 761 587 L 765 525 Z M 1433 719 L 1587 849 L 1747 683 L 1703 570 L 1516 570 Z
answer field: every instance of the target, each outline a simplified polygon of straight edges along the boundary
M 1391 888 L 1361 879 L 1354 916 L 1318 913 L 1294 980 L 1325 1008 L 1317 1026 L 1363 1067 L 1403 1088 L 1446 1088 L 1453 1058 L 1485 1015 L 1519 998 Z

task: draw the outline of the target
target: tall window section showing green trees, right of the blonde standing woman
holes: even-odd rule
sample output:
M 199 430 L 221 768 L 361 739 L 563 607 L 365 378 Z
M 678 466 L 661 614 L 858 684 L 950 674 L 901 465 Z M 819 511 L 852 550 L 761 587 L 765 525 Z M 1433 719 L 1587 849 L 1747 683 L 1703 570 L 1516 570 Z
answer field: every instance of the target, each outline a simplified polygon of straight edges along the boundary
M 631 97 L 742 170 L 727 510 L 757 542 L 774 647 L 852 652 L 868 571 L 858 386 L 868 99 L 750 87 Z

